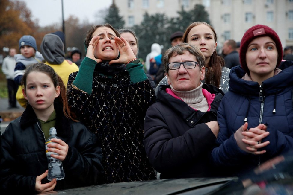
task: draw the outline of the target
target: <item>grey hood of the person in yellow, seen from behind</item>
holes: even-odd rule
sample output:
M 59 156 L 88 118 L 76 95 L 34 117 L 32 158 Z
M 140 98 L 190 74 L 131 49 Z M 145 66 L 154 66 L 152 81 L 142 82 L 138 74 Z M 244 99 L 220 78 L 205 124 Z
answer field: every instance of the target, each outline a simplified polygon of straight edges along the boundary
M 41 43 L 43 57 L 50 64 L 61 64 L 65 59 L 64 44 L 55 34 L 46 34 Z

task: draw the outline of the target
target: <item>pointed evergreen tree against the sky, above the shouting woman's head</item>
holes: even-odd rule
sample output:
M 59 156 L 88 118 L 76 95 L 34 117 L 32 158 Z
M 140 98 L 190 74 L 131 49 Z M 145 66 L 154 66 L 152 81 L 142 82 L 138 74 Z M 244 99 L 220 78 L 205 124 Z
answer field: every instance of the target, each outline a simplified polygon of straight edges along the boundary
M 105 16 L 105 23 L 111 24 L 115 29 L 124 28 L 124 20 L 122 16 L 119 16 L 119 9 L 115 4 L 115 1 L 113 0 L 113 3 L 111 4 L 109 8 L 109 12 Z

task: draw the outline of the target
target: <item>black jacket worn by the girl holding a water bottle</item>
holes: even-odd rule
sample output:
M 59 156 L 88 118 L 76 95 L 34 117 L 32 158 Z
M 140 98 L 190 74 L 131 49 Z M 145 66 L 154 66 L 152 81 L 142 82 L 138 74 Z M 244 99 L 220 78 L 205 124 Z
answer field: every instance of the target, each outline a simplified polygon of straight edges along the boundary
M 80 122 L 65 118 L 62 108 L 54 107 L 57 136 L 69 145 L 62 162 L 65 178 L 57 181 L 54 190 L 96 185 L 104 171 L 100 163 L 102 151 L 98 138 Z M 8 125 L 1 138 L 1 194 L 35 194 L 36 177 L 48 169 L 48 164 L 45 137 L 30 105 L 21 117 Z M 42 181 L 47 182 L 47 178 Z

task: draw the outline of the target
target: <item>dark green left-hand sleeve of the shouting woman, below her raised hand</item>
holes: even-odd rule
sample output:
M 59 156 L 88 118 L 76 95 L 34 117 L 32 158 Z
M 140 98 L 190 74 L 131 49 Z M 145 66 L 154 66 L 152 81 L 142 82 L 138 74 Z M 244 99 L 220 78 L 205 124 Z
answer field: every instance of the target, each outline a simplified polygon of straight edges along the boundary
M 93 86 L 93 71 L 95 70 L 97 62 L 88 57 L 82 60 L 79 71 L 76 75 L 73 85 L 78 89 L 91 94 Z

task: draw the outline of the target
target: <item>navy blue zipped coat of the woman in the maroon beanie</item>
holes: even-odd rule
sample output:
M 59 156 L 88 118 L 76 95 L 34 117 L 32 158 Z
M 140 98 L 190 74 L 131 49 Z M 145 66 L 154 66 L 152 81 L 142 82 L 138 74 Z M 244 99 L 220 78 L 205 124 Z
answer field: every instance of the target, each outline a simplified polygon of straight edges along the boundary
M 219 146 L 212 151 L 215 165 L 226 167 L 229 176 L 239 175 L 293 149 L 293 64 L 292 61 L 283 63 L 288 63 L 288 68 L 263 81 L 263 103 L 259 100 L 259 84 L 242 79 L 245 72 L 240 65 L 231 69 L 230 91 L 225 94 L 218 109 L 220 132 L 216 143 Z M 244 124 L 245 118 L 248 129 L 259 124 L 267 125 L 270 135 L 262 140 L 270 141 L 268 146 L 262 148 L 266 153 L 254 155 L 237 146 L 234 133 Z

